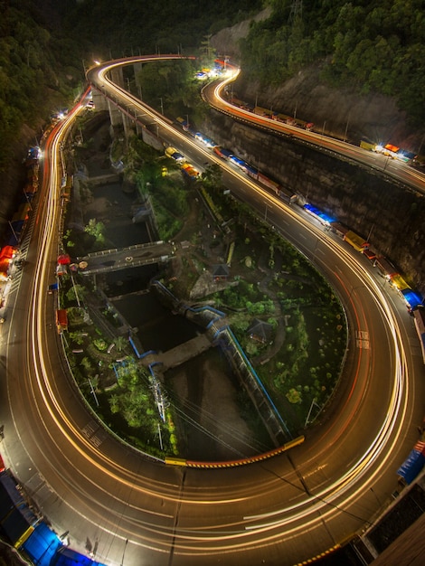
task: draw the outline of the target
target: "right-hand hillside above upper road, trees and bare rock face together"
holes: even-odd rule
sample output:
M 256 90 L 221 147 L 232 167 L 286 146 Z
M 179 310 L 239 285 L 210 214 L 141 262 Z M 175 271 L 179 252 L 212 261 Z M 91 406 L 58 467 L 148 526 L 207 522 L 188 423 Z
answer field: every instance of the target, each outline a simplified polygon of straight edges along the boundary
M 241 62 L 235 96 L 354 144 L 425 153 L 423 0 L 268 4 L 211 40 Z

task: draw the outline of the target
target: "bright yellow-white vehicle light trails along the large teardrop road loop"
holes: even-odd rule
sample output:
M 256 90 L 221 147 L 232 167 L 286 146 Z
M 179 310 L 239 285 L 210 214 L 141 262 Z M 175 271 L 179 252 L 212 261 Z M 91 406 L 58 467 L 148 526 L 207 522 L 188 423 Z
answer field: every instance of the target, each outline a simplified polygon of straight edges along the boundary
M 147 61 L 156 61 L 158 58 L 150 58 Z M 178 57 L 175 57 L 178 59 Z M 142 61 L 146 61 L 143 59 Z M 128 64 L 128 61 L 126 61 Z M 102 91 L 105 89 L 105 85 L 108 88 L 119 93 L 119 96 L 124 97 L 127 102 L 135 104 L 135 100 L 129 96 L 124 90 L 118 89 L 112 82 L 107 78 L 107 73 L 110 71 L 112 66 L 118 66 L 116 63 L 114 65 L 105 66 L 99 70 L 99 82 L 101 86 L 97 88 Z M 232 78 L 226 80 L 230 81 Z M 223 88 L 222 83 L 217 89 Z M 169 124 L 160 118 L 156 112 L 151 112 L 146 109 L 146 105 L 140 105 L 140 108 L 146 112 L 151 118 L 155 119 L 161 127 L 173 129 L 174 135 L 180 136 L 184 143 L 192 144 L 198 151 L 202 151 L 203 156 L 207 156 L 208 159 L 213 160 L 219 165 L 224 165 L 220 158 L 216 158 L 211 152 L 201 149 L 200 146 L 189 140 L 180 132 L 171 128 Z M 61 125 L 63 132 L 71 124 L 71 120 L 79 112 L 79 108 L 75 111 L 75 114 L 71 113 Z M 53 153 L 55 156 L 59 153 L 59 143 L 60 136 L 56 137 L 54 142 Z M 297 501 L 293 505 L 286 505 L 278 510 L 271 511 L 265 514 L 251 514 L 245 517 L 241 517 L 239 524 L 235 523 L 232 525 L 227 525 L 227 529 L 214 530 L 217 527 L 210 525 L 210 527 L 188 527 L 183 529 L 177 529 L 176 531 L 171 531 L 165 526 L 159 526 L 152 524 L 152 529 L 162 529 L 163 534 L 168 534 L 173 537 L 178 544 L 179 552 L 199 552 L 200 554 L 208 552 L 217 551 L 216 545 L 213 546 L 214 542 L 222 542 L 222 549 L 226 551 L 236 550 L 242 547 L 249 546 L 260 546 L 266 545 L 267 543 L 273 542 L 275 540 L 281 539 L 282 533 L 285 536 L 290 536 L 299 531 L 306 532 L 308 528 L 322 521 L 324 517 L 331 516 L 335 512 L 335 507 L 339 506 L 339 511 L 341 511 L 342 506 L 347 506 L 348 504 L 354 503 L 360 494 L 364 493 L 367 486 L 373 485 L 373 480 L 380 476 L 382 469 L 386 467 L 389 459 L 391 458 L 392 449 L 397 444 L 398 436 L 401 432 L 402 422 L 404 420 L 407 402 L 409 398 L 409 387 L 408 387 L 408 370 L 405 354 L 403 351 L 403 346 L 401 342 L 401 331 L 392 311 L 391 305 L 388 303 L 386 297 L 382 293 L 382 288 L 378 285 L 376 280 L 372 275 L 364 269 L 359 263 L 357 263 L 351 253 L 345 250 L 343 245 L 336 243 L 334 240 L 326 236 L 323 231 L 319 231 L 314 225 L 307 223 L 303 220 L 299 214 L 291 210 L 290 207 L 283 203 L 280 203 L 277 199 L 273 198 L 269 193 L 262 190 L 259 185 L 252 183 L 245 175 L 232 169 L 230 165 L 225 165 L 226 170 L 231 175 L 243 180 L 246 184 L 250 186 L 252 190 L 257 191 L 262 198 L 269 199 L 275 205 L 279 203 L 279 206 L 284 209 L 284 211 L 289 214 L 294 220 L 302 224 L 304 230 L 310 231 L 316 238 L 319 238 L 322 244 L 331 251 L 335 252 L 337 249 L 338 256 L 343 259 L 347 268 L 354 271 L 357 277 L 360 279 L 368 292 L 372 295 L 377 307 L 382 313 L 382 318 L 386 321 L 387 328 L 392 337 L 392 348 L 394 357 L 394 375 L 392 376 L 392 391 L 391 399 L 388 404 L 388 409 L 386 411 L 385 418 L 382 422 L 380 429 L 375 434 L 374 438 L 371 440 L 369 447 L 365 450 L 364 454 L 360 456 L 354 464 L 345 471 L 345 473 L 335 480 L 333 483 L 327 485 L 326 487 L 317 491 L 314 495 L 306 495 L 302 500 Z M 55 394 L 52 388 L 50 380 L 52 376 L 48 375 L 45 366 L 47 363 L 44 359 L 44 348 L 45 344 L 42 341 L 42 328 L 43 328 L 43 316 L 42 311 L 42 293 L 45 293 L 45 289 L 48 284 L 48 271 L 52 269 L 48 261 L 44 258 L 50 256 L 49 250 L 52 246 L 52 236 L 57 231 L 58 216 L 60 208 L 60 194 L 58 190 L 59 179 L 61 178 L 61 173 L 58 170 L 57 158 L 52 159 L 52 171 L 51 171 L 51 184 L 50 184 L 50 194 L 47 204 L 46 222 L 44 231 L 42 233 L 42 241 L 40 242 L 40 261 L 37 264 L 36 275 L 35 275 L 35 286 L 36 292 L 38 292 L 38 297 L 34 295 L 33 297 L 33 307 L 34 313 L 32 319 L 32 335 L 31 344 L 33 347 L 34 358 L 37 357 L 38 360 L 35 363 L 37 382 L 42 395 L 42 399 L 47 408 L 49 408 L 52 415 L 52 419 L 55 421 L 58 429 L 61 430 L 61 434 L 70 442 L 70 444 L 79 451 L 80 455 L 87 458 L 90 461 L 90 465 L 97 467 L 99 471 L 103 474 L 108 474 L 117 482 L 121 482 L 126 486 L 132 486 L 135 489 L 146 493 L 146 495 L 153 495 L 156 497 L 161 497 L 164 499 L 169 499 L 170 501 L 177 501 L 179 495 L 165 495 L 160 492 L 159 488 L 147 489 L 140 484 L 136 485 L 136 477 L 133 478 L 129 475 L 129 472 L 125 467 L 119 466 L 117 463 L 111 462 L 104 455 L 98 453 L 95 448 L 90 445 L 88 439 L 86 439 L 80 430 L 76 429 L 73 423 L 67 418 L 65 412 L 61 409 L 61 404 L 58 399 L 55 398 Z M 77 443 L 80 442 L 80 445 Z M 93 458 L 90 454 L 96 455 L 98 459 Z M 383 455 L 383 456 L 382 456 Z M 377 458 L 380 457 L 380 461 L 377 463 Z M 106 467 L 101 466 L 101 458 L 104 458 L 104 462 L 111 465 L 114 464 L 115 472 L 109 471 Z M 376 465 L 377 464 L 377 465 Z M 374 468 L 373 468 L 374 467 Z M 372 469 L 372 472 L 371 472 Z M 366 476 L 366 473 L 368 476 Z M 171 489 L 171 486 L 167 486 Z M 351 491 L 348 494 L 348 490 Z M 177 490 L 176 490 L 177 491 Z M 188 495 L 184 495 L 184 503 L 194 505 L 213 505 L 213 504 L 230 504 L 232 505 L 235 501 L 238 501 L 238 497 L 233 498 L 222 498 L 214 499 L 198 499 L 199 495 L 195 492 L 192 498 Z M 181 499 L 180 499 L 181 500 Z M 338 502 L 340 502 L 338 504 Z M 320 513 L 317 513 L 320 512 Z M 317 514 L 319 516 L 317 516 Z M 302 521 L 301 521 L 302 520 Z M 240 528 L 237 531 L 232 531 L 233 528 L 238 525 Z M 261 535 L 260 540 L 253 540 L 254 535 L 259 533 L 264 533 Z M 194 547 L 191 542 L 199 543 L 198 546 Z M 209 548 L 206 542 L 211 542 L 212 546 Z

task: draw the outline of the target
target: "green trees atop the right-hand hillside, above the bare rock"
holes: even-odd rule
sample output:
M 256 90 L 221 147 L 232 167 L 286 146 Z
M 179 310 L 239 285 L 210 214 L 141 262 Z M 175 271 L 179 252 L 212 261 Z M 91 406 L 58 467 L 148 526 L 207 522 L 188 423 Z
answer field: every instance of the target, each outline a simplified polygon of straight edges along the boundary
M 241 40 L 241 66 L 279 85 L 323 63 L 321 80 L 397 99 L 411 123 L 425 121 L 423 0 L 269 0 L 272 14 Z

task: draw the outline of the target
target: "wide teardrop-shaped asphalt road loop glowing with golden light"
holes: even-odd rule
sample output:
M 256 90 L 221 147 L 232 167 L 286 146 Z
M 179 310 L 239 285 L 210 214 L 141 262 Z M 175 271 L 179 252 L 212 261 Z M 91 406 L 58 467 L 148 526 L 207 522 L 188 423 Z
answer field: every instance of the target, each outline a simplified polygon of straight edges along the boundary
M 107 73 L 107 64 L 89 71 L 90 82 L 130 115 L 156 119 L 160 137 L 195 165 L 223 165 L 231 192 L 267 213 L 334 286 L 350 324 L 338 410 L 288 453 L 220 469 L 165 466 L 99 427 L 68 376 L 46 292 L 58 254 L 60 144 L 77 105 L 46 142 L 29 263 L 2 328 L 2 399 L 10 406 L 2 405 L 2 453 L 56 532 L 69 531 L 72 548 L 91 548 L 106 564 L 305 561 L 361 532 L 391 499 L 422 419 L 423 366 L 411 317 L 364 256 L 175 130 Z

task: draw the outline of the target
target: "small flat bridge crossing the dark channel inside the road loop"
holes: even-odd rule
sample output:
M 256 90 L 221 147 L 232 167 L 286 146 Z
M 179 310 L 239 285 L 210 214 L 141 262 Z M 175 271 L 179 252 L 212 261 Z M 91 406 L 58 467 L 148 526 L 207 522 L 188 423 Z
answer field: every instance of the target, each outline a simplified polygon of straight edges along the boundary
M 175 246 L 166 241 L 136 244 L 128 248 L 102 250 L 77 258 L 82 275 L 96 275 L 108 271 L 137 268 L 173 258 Z

